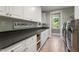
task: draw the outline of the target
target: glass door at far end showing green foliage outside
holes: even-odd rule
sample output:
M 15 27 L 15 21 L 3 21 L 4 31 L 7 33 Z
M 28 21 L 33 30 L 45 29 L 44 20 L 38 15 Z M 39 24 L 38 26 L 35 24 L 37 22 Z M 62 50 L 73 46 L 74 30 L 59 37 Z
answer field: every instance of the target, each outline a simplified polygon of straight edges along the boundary
M 60 13 L 52 14 L 51 32 L 52 34 L 60 34 Z

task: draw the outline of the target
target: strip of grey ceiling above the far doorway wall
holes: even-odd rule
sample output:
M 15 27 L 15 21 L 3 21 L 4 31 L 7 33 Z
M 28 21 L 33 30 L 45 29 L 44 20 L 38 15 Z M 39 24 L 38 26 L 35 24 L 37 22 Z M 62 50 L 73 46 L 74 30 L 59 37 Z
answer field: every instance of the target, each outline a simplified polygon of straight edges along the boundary
M 60 10 L 65 9 L 73 6 L 41 6 L 42 11 L 53 11 L 53 10 Z

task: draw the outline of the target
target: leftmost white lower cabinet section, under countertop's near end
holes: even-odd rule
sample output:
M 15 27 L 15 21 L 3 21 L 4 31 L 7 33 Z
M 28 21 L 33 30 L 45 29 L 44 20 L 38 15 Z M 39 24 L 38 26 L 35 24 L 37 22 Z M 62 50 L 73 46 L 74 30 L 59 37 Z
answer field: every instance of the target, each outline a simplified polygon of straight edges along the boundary
M 3 49 L 1 50 L 1 52 L 24 52 L 24 50 L 25 50 L 25 40 Z

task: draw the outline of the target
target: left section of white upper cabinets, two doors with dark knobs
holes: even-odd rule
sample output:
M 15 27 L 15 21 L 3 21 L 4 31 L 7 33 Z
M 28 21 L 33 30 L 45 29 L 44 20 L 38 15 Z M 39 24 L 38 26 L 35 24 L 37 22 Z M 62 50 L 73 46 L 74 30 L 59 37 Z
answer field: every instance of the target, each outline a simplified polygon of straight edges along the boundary
M 24 17 L 23 6 L 0 6 L 0 15 L 23 18 Z

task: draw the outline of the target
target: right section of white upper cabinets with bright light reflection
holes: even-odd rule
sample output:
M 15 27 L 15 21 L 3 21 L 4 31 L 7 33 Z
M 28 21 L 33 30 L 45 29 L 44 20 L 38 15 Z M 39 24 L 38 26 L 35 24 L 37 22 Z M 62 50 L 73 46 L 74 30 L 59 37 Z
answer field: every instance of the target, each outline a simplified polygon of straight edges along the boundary
M 41 22 L 41 7 L 25 6 L 24 18 L 31 21 Z

